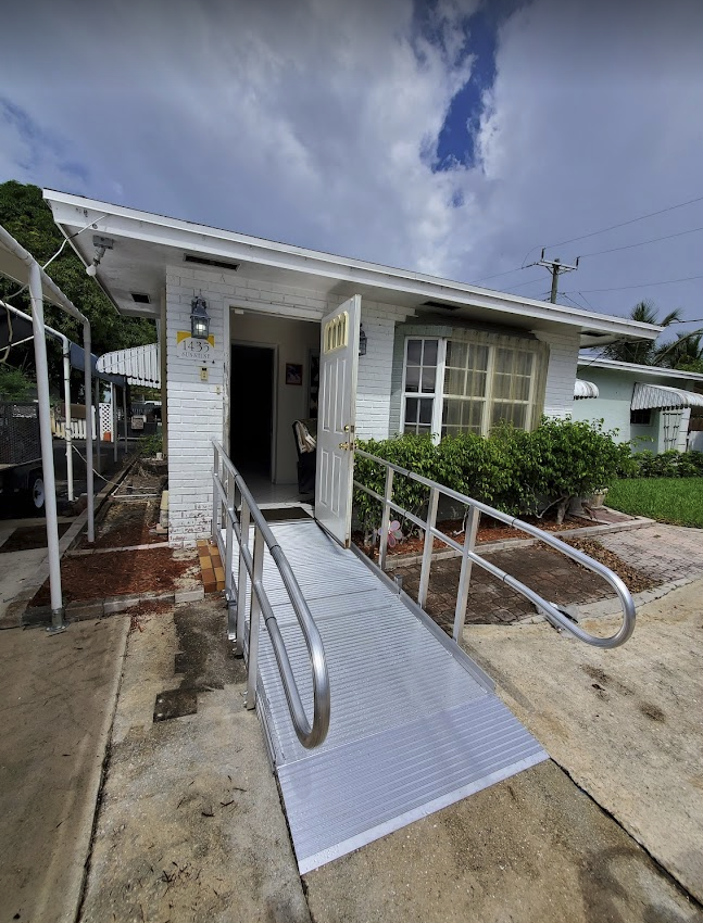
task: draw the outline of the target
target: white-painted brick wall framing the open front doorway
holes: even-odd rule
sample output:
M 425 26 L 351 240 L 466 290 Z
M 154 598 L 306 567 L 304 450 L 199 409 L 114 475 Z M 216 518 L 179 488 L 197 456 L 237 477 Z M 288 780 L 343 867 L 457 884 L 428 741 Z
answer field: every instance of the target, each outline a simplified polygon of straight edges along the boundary
M 190 303 L 202 292 L 211 317 L 215 351 L 206 364 L 209 381 L 200 379 L 201 364 L 184 358 L 176 334 L 190 329 Z M 192 544 L 212 533 L 212 439 L 225 447 L 228 418 L 229 307 L 258 309 L 319 320 L 344 298 L 255 282 L 233 273 L 170 266 L 166 275 L 166 342 L 168 400 L 168 535 L 174 546 Z M 363 438 L 388 435 L 393 330 L 409 309 L 362 299 L 362 324 L 367 353 L 360 358 L 356 423 Z

